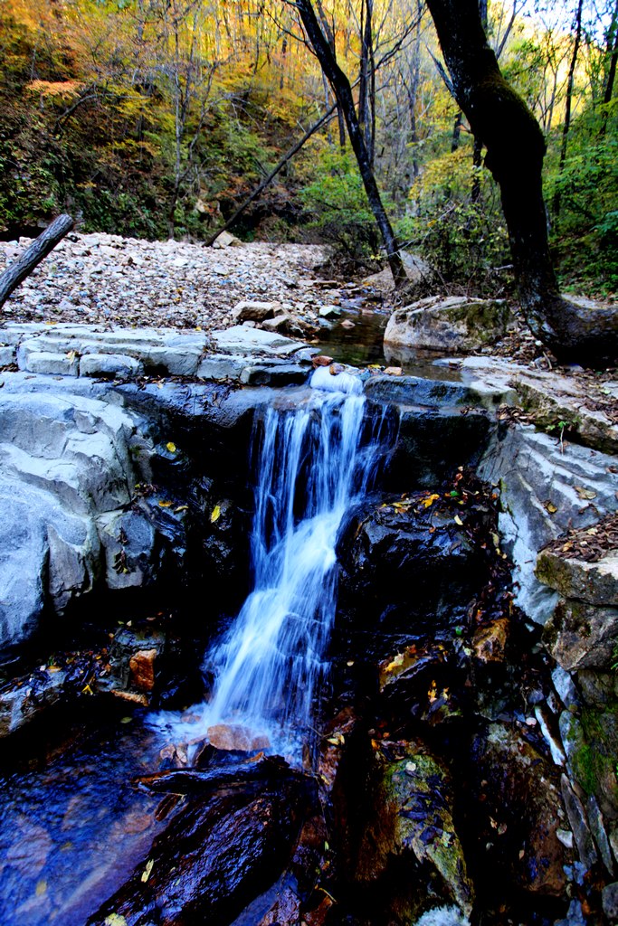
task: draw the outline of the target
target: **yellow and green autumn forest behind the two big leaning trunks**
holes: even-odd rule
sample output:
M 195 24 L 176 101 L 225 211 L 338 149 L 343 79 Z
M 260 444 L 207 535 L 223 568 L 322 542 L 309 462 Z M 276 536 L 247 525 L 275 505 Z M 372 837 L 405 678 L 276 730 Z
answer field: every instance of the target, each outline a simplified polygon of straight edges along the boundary
M 544 132 L 561 286 L 612 295 L 618 3 L 549 6 L 482 6 L 486 35 Z M 498 186 L 424 4 L 320 0 L 315 9 L 399 241 L 447 286 L 508 287 Z M 4 238 L 69 211 L 82 231 L 204 240 L 333 109 L 234 231 L 326 241 L 356 267 L 378 257 L 343 120 L 292 3 L 0 0 L 0 72 Z

